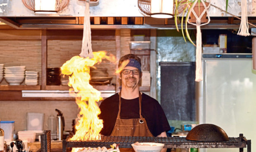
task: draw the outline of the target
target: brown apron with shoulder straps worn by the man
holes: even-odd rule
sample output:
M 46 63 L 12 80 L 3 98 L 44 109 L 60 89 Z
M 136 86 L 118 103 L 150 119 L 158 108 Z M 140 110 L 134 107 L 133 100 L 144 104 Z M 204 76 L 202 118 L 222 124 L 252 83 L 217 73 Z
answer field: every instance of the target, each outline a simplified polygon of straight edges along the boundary
M 119 93 L 119 111 L 116 118 L 116 124 L 110 136 L 144 136 L 153 137 L 145 118 L 141 115 L 141 93 L 139 92 L 140 118 L 121 119 L 121 92 Z

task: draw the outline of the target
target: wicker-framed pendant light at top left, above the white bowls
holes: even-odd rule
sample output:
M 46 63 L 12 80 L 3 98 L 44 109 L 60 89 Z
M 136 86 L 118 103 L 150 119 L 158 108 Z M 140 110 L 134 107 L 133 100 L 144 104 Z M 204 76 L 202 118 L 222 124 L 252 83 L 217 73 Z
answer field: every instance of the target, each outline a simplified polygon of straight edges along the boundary
M 69 5 L 69 0 L 22 0 L 22 2 L 37 14 L 54 14 Z

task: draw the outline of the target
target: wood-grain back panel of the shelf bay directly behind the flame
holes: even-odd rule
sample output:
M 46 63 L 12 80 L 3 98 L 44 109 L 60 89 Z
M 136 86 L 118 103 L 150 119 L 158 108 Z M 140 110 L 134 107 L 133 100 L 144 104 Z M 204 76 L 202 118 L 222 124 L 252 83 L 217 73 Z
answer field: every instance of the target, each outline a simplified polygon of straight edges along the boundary
M 61 67 L 67 60 L 81 53 L 81 40 L 48 40 L 47 51 L 47 67 Z M 107 51 L 107 55 L 116 55 L 114 40 L 95 40 L 92 41 L 93 51 Z M 115 83 L 115 64 L 108 60 L 103 60 L 102 63 L 95 67 L 107 68 L 109 76 L 114 77 L 111 83 Z

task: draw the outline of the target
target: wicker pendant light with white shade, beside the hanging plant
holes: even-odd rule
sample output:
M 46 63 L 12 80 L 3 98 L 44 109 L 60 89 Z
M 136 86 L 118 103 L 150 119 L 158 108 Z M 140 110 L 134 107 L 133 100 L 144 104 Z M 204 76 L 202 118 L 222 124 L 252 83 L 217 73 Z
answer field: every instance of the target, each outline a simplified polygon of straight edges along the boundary
M 173 0 L 138 0 L 140 11 L 154 18 L 172 18 Z

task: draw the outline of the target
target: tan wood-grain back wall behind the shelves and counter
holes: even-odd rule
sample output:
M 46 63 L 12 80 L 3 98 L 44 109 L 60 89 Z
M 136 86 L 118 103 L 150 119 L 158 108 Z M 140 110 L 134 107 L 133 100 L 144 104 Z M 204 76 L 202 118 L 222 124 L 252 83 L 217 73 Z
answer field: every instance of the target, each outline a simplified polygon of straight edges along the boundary
M 81 52 L 81 39 L 74 38 L 77 37 L 76 35 L 69 36 L 65 32 L 60 33 L 63 34 L 63 37 L 60 37 L 61 39 L 47 40 L 47 67 L 60 67 L 66 60 L 74 55 L 79 55 Z M 119 34 L 121 55 L 130 53 L 128 43 L 130 41 L 130 30 L 120 30 Z M 50 35 L 49 37 L 55 36 Z M 92 49 L 93 51 L 106 50 L 107 54 L 116 55 L 115 30 L 114 32 L 92 30 Z M 26 70 L 40 72 L 40 30 L 0 29 L 0 64 L 2 63 L 5 66 L 26 65 Z M 104 60 L 102 64 L 96 66 L 107 67 L 109 75 L 113 76 L 111 83 L 116 83 L 115 64 L 110 64 L 109 61 Z M 0 85 L 7 85 L 7 83 L 3 80 Z M 1 101 L 0 99 L 0 118 L 2 121 L 15 121 L 14 129 L 17 132 L 26 130 L 26 113 L 45 113 L 43 129 L 48 129 L 47 119 L 49 115 L 57 115 L 55 108 L 62 111 L 64 115 L 65 130 L 71 130 L 72 120 L 76 119 L 78 114 L 78 106 L 75 101 Z

